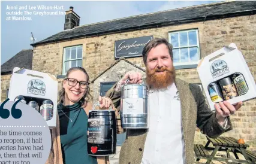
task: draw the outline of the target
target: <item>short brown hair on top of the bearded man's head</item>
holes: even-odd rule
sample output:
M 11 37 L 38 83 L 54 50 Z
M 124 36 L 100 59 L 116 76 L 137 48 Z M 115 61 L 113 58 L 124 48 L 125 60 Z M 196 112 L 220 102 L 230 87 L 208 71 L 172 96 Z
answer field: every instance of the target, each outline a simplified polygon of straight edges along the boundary
M 147 62 L 147 54 L 152 48 L 155 48 L 156 46 L 160 44 L 165 44 L 169 50 L 169 54 L 171 56 L 171 60 L 173 60 L 173 45 L 171 45 L 167 40 L 164 38 L 154 38 L 152 41 L 148 42 L 146 46 L 143 48 L 142 51 L 142 58 L 144 65 L 146 65 Z

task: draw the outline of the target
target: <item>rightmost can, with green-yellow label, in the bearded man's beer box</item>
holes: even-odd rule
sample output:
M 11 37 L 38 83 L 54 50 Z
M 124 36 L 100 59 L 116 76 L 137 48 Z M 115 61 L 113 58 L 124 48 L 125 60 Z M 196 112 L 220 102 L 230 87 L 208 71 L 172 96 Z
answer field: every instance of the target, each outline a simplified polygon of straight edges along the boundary
M 238 95 L 245 95 L 245 93 L 248 92 L 249 88 L 243 75 L 237 72 L 233 74 L 232 78 L 234 81 L 234 85 L 236 86 Z

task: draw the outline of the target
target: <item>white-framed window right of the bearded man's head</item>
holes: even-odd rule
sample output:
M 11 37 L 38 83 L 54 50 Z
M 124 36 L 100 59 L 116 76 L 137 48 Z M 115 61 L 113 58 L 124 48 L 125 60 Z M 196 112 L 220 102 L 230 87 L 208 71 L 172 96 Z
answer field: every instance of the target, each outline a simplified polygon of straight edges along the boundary
M 198 30 L 176 31 L 169 33 L 173 45 L 173 65 L 195 65 L 200 60 Z

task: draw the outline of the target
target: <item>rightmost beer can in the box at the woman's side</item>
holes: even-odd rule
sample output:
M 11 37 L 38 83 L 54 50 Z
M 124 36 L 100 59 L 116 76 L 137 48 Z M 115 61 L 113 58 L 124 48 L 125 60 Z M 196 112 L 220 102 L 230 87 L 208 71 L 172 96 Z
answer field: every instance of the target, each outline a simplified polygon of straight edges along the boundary
M 44 120 L 51 120 L 53 117 L 53 102 L 49 99 L 43 101 L 40 107 L 40 114 L 44 117 Z

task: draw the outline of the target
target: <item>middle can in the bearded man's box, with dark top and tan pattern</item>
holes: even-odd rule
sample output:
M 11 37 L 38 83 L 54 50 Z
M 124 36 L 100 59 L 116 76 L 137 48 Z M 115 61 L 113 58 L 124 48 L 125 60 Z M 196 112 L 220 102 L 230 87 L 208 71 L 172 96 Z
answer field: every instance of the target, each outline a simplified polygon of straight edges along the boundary
M 221 86 L 222 95 L 225 100 L 238 96 L 236 87 L 230 77 L 225 77 L 219 80 L 219 86 Z

